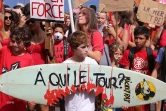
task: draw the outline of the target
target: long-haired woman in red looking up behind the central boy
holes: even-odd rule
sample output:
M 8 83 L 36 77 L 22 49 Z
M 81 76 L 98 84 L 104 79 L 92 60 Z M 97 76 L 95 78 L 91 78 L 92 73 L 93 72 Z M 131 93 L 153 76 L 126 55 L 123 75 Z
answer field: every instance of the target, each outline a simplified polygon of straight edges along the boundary
M 76 30 L 85 32 L 90 38 L 88 56 L 98 63 L 103 53 L 103 39 L 97 31 L 97 18 L 93 9 L 81 8 L 76 18 Z

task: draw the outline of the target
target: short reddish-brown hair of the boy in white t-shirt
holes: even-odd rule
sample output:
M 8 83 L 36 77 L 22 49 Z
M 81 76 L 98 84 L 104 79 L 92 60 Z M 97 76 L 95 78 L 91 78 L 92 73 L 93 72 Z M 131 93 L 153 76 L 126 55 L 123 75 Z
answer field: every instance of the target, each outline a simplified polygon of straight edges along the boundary
M 68 42 L 72 49 L 77 49 L 78 46 L 81 44 L 88 45 L 89 37 L 86 33 L 82 31 L 75 31 L 74 33 L 70 34 L 68 37 Z

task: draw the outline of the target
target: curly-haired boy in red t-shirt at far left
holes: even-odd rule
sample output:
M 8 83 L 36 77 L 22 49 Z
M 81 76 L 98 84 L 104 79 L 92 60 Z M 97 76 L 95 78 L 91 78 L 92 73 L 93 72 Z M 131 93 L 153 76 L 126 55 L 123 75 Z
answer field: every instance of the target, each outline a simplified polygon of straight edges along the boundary
M 30 45 L 31 32 L 25 27 L 16 28 L 10 35 L 9 46 L 0 49 L 0 74 L 34 64 L 26 52 Z M 0 111 L 26 111 L 26 102 L 0 92 Z

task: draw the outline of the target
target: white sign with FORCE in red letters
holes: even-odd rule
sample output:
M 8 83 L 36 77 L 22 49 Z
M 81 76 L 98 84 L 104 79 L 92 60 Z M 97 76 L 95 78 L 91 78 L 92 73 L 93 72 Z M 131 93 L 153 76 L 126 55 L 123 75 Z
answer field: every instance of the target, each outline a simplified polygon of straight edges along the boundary
M 64 21 L 64 0 L 30 0 L 30 16 L 36 19 Z

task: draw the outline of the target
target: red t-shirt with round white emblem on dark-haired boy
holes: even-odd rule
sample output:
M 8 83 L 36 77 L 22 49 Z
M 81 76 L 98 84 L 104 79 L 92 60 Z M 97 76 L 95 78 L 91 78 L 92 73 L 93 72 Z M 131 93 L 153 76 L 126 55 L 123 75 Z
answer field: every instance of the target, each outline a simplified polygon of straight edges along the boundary
M 130 61 L 128 59 L 130 50 L 126 50 L 120 64 L 123 66 L 130 66 Z M 154 59 L 157 57 L 157 53 L 153 50 Z M 148 67 L 148 56 L 146 49 L 142 51 L 136 51 L 134 54 L 134 60 L 131 66 L 131 70 L 136 72 L 141 72 L 146 75 L 151 75 Z

